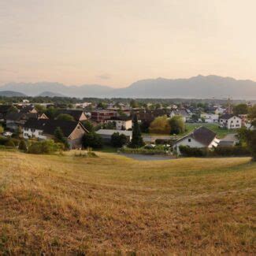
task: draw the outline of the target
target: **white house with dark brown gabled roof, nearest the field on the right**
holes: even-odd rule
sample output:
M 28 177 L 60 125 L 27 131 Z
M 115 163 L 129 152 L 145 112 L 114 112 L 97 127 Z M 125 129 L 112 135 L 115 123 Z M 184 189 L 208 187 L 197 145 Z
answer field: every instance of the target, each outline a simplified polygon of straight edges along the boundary
M 177 154 L 180 154 L 180 146 L 196 147 L 196 148 L 212 148 L 217 147 L 219 139 L 216 133 L 206 127 L 199 127 L 190 134 L 178 139 L 174 145 Z

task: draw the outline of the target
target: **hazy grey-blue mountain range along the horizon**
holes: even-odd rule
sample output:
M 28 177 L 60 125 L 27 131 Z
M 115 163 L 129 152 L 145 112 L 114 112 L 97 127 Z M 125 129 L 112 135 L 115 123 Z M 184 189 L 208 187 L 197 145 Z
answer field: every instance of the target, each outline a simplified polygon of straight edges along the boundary
M 65 86 L 62 83 L 6 83 L 1 91 L 16 91 L 28 96 L 67 96 L 98 98 L 234 98 L 255 99 L 256 82 L 222 76 L 193 76 L 188 79 L 139 80 L 128 87 L 99 84 Z

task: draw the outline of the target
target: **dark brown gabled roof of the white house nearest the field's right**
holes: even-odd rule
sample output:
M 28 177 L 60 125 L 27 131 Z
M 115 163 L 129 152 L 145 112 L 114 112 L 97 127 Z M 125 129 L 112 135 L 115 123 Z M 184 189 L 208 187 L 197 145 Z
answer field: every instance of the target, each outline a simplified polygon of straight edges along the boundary
M 213 139 L 216 138 L 216 133 L 206 127 L 201 126 L 195 129 L 194 132 L 191 132 L 189 135 L 186 135 L 183 138 L 178 139 L 177 142 L 188 137 L 191 137 L 198 141 L 199 143 L 202 143 L 202 145 L 208 147 L 210 143 L 213 141 Z

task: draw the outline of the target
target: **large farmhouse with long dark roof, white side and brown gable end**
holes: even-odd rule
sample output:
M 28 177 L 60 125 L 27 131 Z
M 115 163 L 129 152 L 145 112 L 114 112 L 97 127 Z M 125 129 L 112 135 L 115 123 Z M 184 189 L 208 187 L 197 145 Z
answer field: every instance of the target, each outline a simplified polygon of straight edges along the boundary
M 54 132 L 57 128 L 61 128 L 65 138 L 68 140 L 71 149 L 82 147 L 82 138 L 87 129 L 83 124 L 77 121 L 62 121 L 50 119 L 35 119 L 30 118 L 24 124 L 23 136 L 24 139 L 54 139 Z

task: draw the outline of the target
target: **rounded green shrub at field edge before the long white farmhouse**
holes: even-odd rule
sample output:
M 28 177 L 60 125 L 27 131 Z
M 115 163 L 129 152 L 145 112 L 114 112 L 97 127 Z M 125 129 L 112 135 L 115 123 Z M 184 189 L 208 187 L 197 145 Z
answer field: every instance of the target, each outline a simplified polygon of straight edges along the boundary
M 34 142 L 28 147 L 29 154 L 51 154 L 60 150 L 59 144 L 54 143 L 54 140 L 42 140 Z

